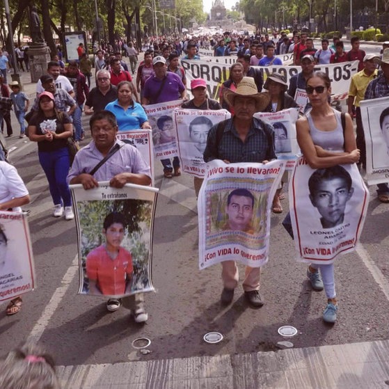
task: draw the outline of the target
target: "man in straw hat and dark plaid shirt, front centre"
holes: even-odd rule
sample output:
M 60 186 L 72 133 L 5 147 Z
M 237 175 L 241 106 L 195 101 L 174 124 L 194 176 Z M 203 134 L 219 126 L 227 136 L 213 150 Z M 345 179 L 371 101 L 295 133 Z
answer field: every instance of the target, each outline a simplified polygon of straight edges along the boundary
M 269 104 L 267 93 L 258 93 L 255 81 L 243 77 L 237 89 L 226 89 L 225 102 L 233 106 L 235 116 L 214 125 L 209 130 L 204 161 L 221 159 L 226 164 L 237 162 L 265 163 L 276 158 L 274 152 L 274 132 L 271 125 L 253 118 L 253 114 L 263 111 Z M 234 298 L 239 274 L 235 261 L 222 262 L 223 292 L 221 303 L 228 305 Z M 260 267 L 246 267 L 243 282 L 244 296 L 248 303 L 259 308 L 264 303 L 260 296 Z

